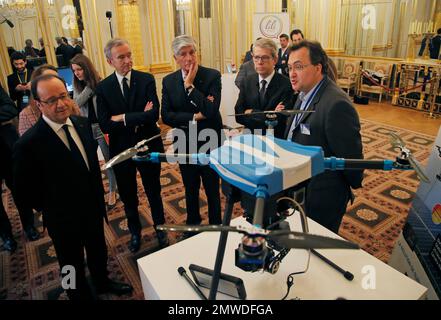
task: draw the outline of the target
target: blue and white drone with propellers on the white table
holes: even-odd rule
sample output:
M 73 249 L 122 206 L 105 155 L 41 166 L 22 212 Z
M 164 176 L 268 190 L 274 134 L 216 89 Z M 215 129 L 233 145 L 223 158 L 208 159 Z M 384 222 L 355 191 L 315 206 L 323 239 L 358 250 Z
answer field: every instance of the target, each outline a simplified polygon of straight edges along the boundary
M 221 232 L 209 299 L 216 297 L 229 232 L 244 235 L 235 251 L 235 263 L 237 267 L 247 272 L 263 270 L 275 274 L 291 249 L 359 249 L 358 245 L 346 240 L 310 234 L 306 214 L 302 206 L 292 198 L 284 199 L 291 202 L 291 208 L 297 209 L 300 213 L 303 232 L 290 230 L 288 222 L 285 221 L 289 216 L 286 212 L 289 211 L 269 212 L 271 219 L 265 219 L 265 206 L 271 197 L 325 170 L 413 169 L 421 181 L 429 181 L 411 151 L 406 148 L 404 141 L 396 134 L 391 134 L 391 142 L 401 152 L 395 161 L 326 158 L 321 147 L 304 146 L 271 135 L 252 134 L 239 135 L 226 140 L 223 146 L 209 154 L 174 156 L 149 152 L 147 143 L 156 138 L 159 138 L 159 135 L 141 141 L 135 147 L 117 155 L 105 165 L 104 169 L 130 158 L 134 161 L 153 163 L 182 161 L 189 163 L 190 160 L 196 159 L 198 165 L 209 165 L 231 186 L 226 194 L 227 203 L 222 225 L 157 227 L 158 230 L 176 232 Z M 234 192 L 238 190 L 251 195 L 255 200 L 252 225 L 248 227 L 230 226 L 235 202 Z M 269 224 L 266 221 L 269 221 Z M 307 269 L 304 272 L 306 271 Z

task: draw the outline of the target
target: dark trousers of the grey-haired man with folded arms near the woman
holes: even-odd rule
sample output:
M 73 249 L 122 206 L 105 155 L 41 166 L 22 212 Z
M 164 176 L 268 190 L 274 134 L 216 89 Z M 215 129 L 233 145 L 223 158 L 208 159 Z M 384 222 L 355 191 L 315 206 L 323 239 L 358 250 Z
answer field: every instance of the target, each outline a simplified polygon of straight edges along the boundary
M 147 199 L 149 200 L 153 222 L 164 224 L 164 206 L 161 198 L 161 164 L 125 161 L 114 167 L 118 192 L 124 203 L 129 230 L 134 235 L 141 234 L 141 222 L 138 213 L 138 169 Z

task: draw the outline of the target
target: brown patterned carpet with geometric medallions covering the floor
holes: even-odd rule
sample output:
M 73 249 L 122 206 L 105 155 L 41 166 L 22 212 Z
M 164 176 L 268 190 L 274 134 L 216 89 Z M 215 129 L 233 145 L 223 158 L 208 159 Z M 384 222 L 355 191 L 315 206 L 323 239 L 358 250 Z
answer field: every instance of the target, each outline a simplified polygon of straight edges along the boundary
M 367 159 L 393 159 L 396 152 L 389 144 L 387 133 L 397 132 L 407 143 L 416 158 L 425 164 L 433 144 L 434 137 L 362 121 L 364 154 Z M 163 164 L 162 195 L 166 210 L 167 223 L 181 224 L 185 221 L 184 188 L 179 170 L 175 165 Z M 419 182 L 413 171 L 366 172 L 364 188 L 356 192 L 357 198 L 348 208 L 340 234 L 387 262 L 396 238 L 404 226 L 410 203 Z M 107 180 L 105 180 L 107 188 Z M 158 250 L 158 242 L 152 227 L 150 209 L 146 202 L 141 184 L 140 212 L 144 226 L 141 250 L 132 255 L 127 243 L 130 234 L 124 219 L 122 203 L 109 210 L 109 225 L 105 225 L 105 234 L 109 248 L 110 277 L 115 280 L 130 282 L 134 287 L 131 296 L 122 299 L 143 299 L 141 282 L 136 260 Z M 67 299 L 60 287 L 59 269 L 55 251 L 50 238 L 45 234 L 36 242 L 26 242 L 22 234 L 18 214 L 9 192 L 3 193 L 4 203 L 18 241 L 17 251 L 10 255 L 0 248 L 0 299 Z M 203 193 L 200 196 L 204 223 L 207 223 L 207 204 Z M 222 199 L 222 207 L 225 199 Z M 241 214 L 236 205 L 234 215 Z M 42 231 L 41 216 L 36 215 L 37 227 Z M 171 235 L 171 243 L 176 241 Z M 116 299 L 114 296 L 104 297 Z

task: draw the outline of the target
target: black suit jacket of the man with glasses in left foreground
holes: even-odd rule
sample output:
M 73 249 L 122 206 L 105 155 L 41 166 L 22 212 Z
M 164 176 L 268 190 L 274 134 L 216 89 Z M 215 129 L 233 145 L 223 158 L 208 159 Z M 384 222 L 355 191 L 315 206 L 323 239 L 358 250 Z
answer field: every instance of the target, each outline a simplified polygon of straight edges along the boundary
M 14 186 L 18 201 L 43 211 L 51 236 L 84 230 L 106 218 L 104 188 L 89 121 L 71 117 L 90 170 L 78 164 L 52 128 L 40 118 L 15 144 Z

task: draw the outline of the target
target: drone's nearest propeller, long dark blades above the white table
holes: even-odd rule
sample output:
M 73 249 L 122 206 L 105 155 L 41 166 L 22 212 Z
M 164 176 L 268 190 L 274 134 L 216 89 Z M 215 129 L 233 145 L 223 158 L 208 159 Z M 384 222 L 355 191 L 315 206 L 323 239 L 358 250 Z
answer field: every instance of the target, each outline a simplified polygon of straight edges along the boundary
M 176 232 L 238 232 L 252 237 L 272 239 L 287 249 L 358 249 L 358 245 L 345 241 L 309 233 L 294 232 L 290 230 L 265 230 L 256 227 L 231 227 L 231 226 L 179 226 L 160 225 L 158 230 Z

